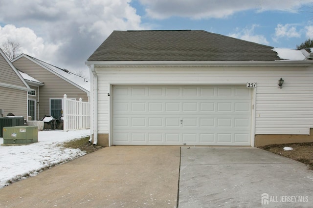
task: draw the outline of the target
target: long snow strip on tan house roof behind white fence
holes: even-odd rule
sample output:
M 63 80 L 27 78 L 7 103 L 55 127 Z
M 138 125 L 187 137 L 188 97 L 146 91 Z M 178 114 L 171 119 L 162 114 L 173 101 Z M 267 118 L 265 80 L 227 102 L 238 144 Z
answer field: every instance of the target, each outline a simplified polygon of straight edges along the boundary
M 42 65 L 44 65 L 46 68 L 52 70 L 53 72 L 59 74 L 60 76 L 64 77 L 65 79 L 69 80 L 70 82 L 72 83 L 75 83 L 77 84 L 78 86 L 84 88 L 85 90 L 89 91 L 90 92 L 90 82 L 88 79 L 85 79 L 83 77 L 80 77 L 66 69 L 61 69 L 57 66 L 54 66 L 54 65 L 51 65 L 49 63 L 46 63 L 46 62 L 43 62 L 43 61 L 40 61 L 36 58 L 33 58 L 33 57 L 30 57 L 34 60 L 36 60 L 36 62 L 39 62 L 41 63 Z

